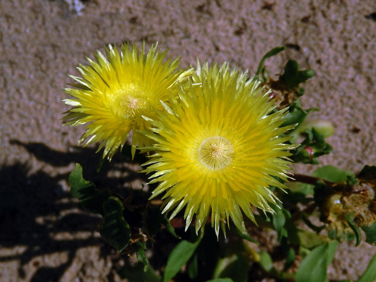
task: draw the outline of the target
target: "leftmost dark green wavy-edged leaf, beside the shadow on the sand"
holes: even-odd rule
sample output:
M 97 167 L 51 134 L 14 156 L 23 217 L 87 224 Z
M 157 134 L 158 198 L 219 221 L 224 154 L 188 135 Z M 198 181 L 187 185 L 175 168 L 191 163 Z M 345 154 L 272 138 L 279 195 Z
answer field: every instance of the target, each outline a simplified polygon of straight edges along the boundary
M 71 195 L 79 199 L 85 209 L 94 214 L 103 215 L 103 202 L 105 202 L 111 194 L 108 190 L 97 190 L 94 183 L 83 179 L 82 166 L 80 164 L 76 164 L 74 170 L 69 174 L 68 182 L 71 186 Z

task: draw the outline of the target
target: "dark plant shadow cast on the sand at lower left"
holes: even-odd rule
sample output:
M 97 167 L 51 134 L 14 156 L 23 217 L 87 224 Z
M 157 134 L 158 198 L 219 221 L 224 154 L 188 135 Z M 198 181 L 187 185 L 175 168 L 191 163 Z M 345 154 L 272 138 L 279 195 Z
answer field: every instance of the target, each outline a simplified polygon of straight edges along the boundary
M 42 143 L 12 140 L 11 144 L 24 147 L 39 161 L 56 168 L 80 162 L 85 179 L 93 181 L 99 189 L 111 187 L 122 196 L 131 193 L 129 188 L 124 189 L 124 183 L 135 179 L 144 181 L 143 174 L 132 169 L 137 168 L 136 164 L 128 161 L 129 165 L 123 165 L 124 157 L 120 153 L 111 163 L 106 161 L 96 173 L 99 154 L 95 154 L 94 148 L 76 147 L 73 152 L 62 153 Z M 111 171 L 118 173 L 109 174 Z M 0 262 L 18 260 L 19 278 L 26 277 L 24 266 L 37 256 L 56 252 L 68 254 L 67 262 L 58 267 L 42 266 L 31 278 L 31 281 L 59 281 L 79 248 L 99 246 L 102 257 L 113 252 L 102 238 L 96 236 L 101 217 L 87 212 L 78 200 L 64 191 L 62 182 L 68 179 L 68 175 L 51 176 L 43 171 L 30 175 L 28 166 L 21 163 L 0 168 L 0 246 L 26 247 L 16 255 L 0 255 Z M 71 236 L 64 237 L 63 233 Z M 80 233 L 86 235 L 76 236 Z

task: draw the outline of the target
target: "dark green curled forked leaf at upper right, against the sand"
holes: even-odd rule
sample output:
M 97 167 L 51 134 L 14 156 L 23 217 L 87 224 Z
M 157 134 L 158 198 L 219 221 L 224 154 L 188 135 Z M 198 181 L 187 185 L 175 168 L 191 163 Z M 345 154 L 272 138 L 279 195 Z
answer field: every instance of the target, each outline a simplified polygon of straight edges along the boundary
M 314 75 L 314 70 L 309 68 L 308 70 L 299 71 L 297 61 L 289 60 L 285 65 L 281 79 L 286 82 L 288 88 L 294 89 L 299 86 L 300 83 L 306 82 L 307 79 Z

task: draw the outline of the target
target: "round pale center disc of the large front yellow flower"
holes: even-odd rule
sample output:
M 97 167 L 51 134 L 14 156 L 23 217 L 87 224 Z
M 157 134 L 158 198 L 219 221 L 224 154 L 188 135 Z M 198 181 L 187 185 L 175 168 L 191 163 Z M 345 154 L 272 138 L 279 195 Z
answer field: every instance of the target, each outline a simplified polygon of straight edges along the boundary
M 232 161 L 230 141 L 221 136 L 210 136 L 199 147 L 199 159 L 208 168 L 219 170 Z

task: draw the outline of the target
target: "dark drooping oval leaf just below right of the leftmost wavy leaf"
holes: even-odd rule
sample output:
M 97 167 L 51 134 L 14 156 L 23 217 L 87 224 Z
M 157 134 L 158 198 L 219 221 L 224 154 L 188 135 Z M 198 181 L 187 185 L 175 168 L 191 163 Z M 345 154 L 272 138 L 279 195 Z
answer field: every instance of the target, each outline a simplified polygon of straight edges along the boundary
M 124 205 L 117 197 L 109 197 L 103 203 L 104 222 L 99 233 L 112 247 L 122 252 L 128 245 L 131 234 L 127 221 L 123 217 Z

